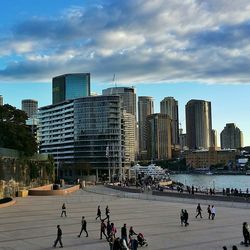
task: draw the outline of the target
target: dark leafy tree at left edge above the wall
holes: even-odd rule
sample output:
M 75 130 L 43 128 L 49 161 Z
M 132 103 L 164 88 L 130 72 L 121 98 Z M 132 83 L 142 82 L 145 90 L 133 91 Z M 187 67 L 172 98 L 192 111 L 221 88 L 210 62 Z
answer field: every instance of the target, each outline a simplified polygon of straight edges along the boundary
M 5 104 L 0 106 L 0 147 L 22 151 L 31 156 L 37 152 L 37 143 L 26 125 L 27 114 Z

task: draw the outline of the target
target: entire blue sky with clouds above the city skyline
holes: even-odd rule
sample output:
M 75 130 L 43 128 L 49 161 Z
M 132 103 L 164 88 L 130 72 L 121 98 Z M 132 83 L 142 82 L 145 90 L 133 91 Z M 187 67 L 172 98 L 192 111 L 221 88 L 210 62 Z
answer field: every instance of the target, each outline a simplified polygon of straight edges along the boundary
M 51 103 L 51 78 L 90 72 L 92 91 L 212 102 L 213 127 L 235 122 L 250 145 L 248 0 L 1 1 L 0 94 Z M 219 140 L 218 140 L 219 142 Z

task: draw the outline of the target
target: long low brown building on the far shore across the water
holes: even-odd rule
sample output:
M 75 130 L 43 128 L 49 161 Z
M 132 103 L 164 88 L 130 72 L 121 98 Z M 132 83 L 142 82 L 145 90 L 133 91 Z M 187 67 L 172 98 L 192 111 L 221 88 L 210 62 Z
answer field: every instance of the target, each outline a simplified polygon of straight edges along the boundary
M 214 147 L 204 150 L 193 150 L 185 153 L 186 164 L 192 168 L 207 168 L 213 165 L 235 165 L 237 150 L 218 150 Z

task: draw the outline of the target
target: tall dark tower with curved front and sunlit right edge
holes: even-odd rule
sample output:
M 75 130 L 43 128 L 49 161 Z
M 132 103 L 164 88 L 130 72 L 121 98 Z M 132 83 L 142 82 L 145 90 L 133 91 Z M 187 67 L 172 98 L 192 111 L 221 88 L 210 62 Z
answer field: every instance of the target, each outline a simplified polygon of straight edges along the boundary
M 186 131 L 189 149 L 208 149 L 211 146 L 211 102 L 190 100 L 186 104 Z

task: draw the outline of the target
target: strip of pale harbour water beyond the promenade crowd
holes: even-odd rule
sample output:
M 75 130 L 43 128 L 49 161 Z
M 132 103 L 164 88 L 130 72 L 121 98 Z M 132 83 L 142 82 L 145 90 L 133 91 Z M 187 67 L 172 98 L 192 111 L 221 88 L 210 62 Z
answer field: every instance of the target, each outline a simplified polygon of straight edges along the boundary
M 237 188 L 245 192 L 248 188 L 250 191 L 249 175 L 174 174 L 170 177 L 184 185 L 194 185 L 201 189 L 215 188 L 221 191 L 223 188 Z

